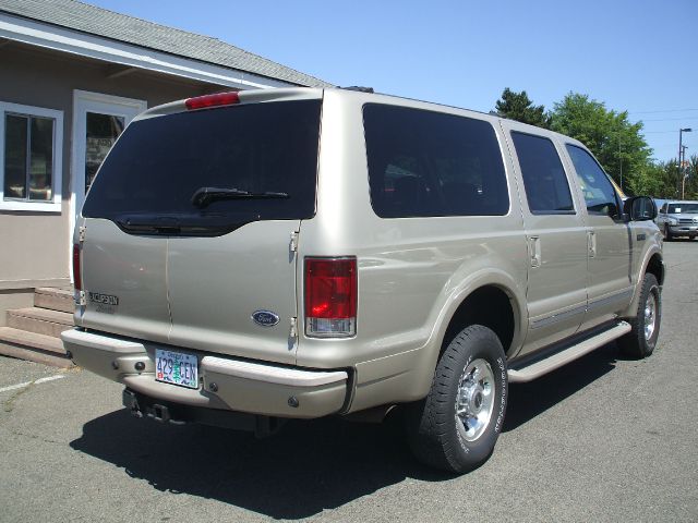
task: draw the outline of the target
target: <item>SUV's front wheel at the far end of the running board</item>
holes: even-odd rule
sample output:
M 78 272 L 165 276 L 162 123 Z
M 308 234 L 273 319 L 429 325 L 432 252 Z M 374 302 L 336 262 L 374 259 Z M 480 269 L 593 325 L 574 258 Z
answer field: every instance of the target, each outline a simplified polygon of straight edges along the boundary
M 649 321 L 653 327 L 648 328 Z M 623 353 L 637 358 L 652 354 L 654 346 L 657 346 L 659 328 L 662 323 L 662 293 L 654 275 L 645 275 L 637 314 L 628 323 L 631 327 L 630 332 L 618 339 L 618 345 Z

